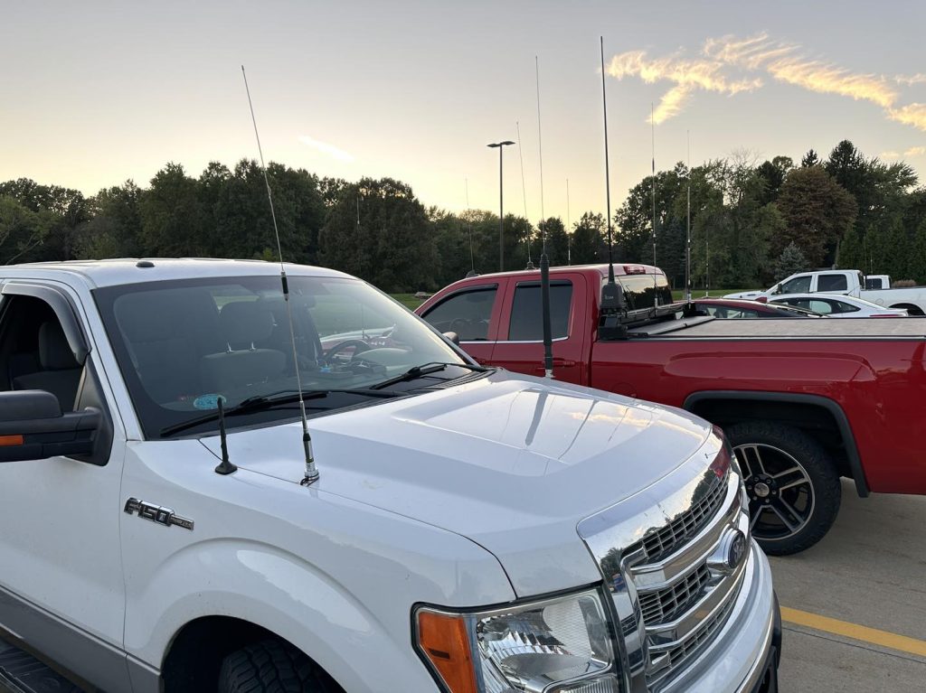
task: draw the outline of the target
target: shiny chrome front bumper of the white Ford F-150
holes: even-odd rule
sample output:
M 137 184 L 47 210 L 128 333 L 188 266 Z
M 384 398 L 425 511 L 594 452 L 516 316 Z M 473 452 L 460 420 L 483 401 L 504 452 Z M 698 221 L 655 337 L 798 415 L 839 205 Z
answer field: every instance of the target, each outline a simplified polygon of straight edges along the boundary
M 743 587 L 711 646 L 663 691 L 775 693 L 782 622 L 769 561 L 752 542 Z

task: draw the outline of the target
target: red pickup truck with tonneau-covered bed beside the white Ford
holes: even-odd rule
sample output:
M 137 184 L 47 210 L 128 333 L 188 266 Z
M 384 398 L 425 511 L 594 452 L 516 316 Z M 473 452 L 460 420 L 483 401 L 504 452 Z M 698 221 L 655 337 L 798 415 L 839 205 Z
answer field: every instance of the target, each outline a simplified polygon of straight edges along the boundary
M 679 406 L 723 427 L 765 551 L 819 541 L 839 510 L 840 476 L 863 497 L 926 494 L 926 318 L 685 315 L 679 303 L 667 307 L 671 291 L 657 267 L 619 265 L 615 274 L 627 331 L 604 339 L 607 266 L 550 270 L 554 377 Z M 536 270 L 457 281 L 416 312 L 456 332 L 481 364 L 544 373 Z

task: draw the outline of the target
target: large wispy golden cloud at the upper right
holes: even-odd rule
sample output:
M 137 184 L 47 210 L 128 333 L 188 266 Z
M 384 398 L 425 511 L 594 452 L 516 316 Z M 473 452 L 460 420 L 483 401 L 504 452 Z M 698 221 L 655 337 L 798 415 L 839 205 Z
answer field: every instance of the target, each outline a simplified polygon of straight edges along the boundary
M 926 83 L 926 75 L 887 78 L 853 72 L 807 53 L 795 43 L 773 41 L 768 34 L 737 38 L 707 39 L 701 56 L 686 58 L 681 53 L 647 58 L 644 51 L 614 56 L 607 73 L 619 80 L 638 77 L 644 82 L 673 82 L 663 94 L 654 114 L 657 123 L 677 116 L 695 91 L 733 95 L 762 87 L 760 75 L 793 84 L 814 93 L 832 93 L 880 106 L 887 118 L 926 130 L 926 105 L 899 106 L 899 85 Z

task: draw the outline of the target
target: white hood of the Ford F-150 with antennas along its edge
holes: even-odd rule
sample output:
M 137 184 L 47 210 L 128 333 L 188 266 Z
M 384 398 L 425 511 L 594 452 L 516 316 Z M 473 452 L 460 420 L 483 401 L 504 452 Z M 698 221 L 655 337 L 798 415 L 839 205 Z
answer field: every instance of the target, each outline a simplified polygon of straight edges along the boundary
M 309 426 L 314 491 L 475 541 L 519 596 L 598 581 L 578 523 L 669 474 L 711 434 L 681 410 L 504 371 Z M 243 469 L 298 483 L 301 439 L 299 423 L 264 427 L 230 434 L 228 449 Z M 218 438 L 202 443 L 219 456 Z

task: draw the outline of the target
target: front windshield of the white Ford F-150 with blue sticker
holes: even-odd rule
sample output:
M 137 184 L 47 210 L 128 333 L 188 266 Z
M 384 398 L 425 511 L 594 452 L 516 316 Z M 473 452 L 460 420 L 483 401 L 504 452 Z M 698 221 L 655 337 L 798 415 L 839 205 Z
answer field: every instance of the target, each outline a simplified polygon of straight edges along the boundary
M 338 391 L 307 402 L 311 413 L 361 403 L 361 390 L 416 365 L 465 363 L 417 316 L 362 281 L 288 280 L 303 390 Z M 279 277 L 157 281 L 98 289 L 94 298 L 147 438 L 216 410 L 219 397 L 231 409 L 297 391 Z M 449 369 L 452 377 L 467 372 Z M 296 415 L 297 404 L 228 426 Z

